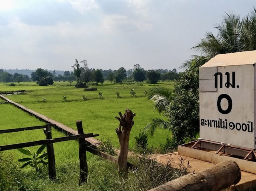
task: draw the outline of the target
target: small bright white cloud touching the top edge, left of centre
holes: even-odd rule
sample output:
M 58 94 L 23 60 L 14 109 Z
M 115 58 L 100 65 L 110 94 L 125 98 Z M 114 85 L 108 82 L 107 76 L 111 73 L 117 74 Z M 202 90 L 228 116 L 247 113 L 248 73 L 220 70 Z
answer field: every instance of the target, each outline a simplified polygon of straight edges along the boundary
M 72 7 L 80 13 L 98 8 L 98 4 L 96 4 L 95 0 L 59 0 L 59 2 L 63 1 L 69 2 Z

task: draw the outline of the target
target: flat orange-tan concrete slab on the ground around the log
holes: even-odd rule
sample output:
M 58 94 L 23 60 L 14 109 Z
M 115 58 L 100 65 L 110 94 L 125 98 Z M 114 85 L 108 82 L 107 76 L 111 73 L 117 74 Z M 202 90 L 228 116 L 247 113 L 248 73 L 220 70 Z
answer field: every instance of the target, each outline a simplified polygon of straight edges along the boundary
M 193 171 L 198 172 L 214 165 L 214 163 L 183 156 L 178 154 L 177 152 L 156 156 L 156 159 L 162 163 L 167 163 L 169 161 L 174 167 L 177 168 L 180 168 L 180 166 L 182 166 L 181 162 L 185 167 L 189 162 L 189 167 L 187 169 L 189 173 L 192 173 Z M 256 174 L 241 171 L 241 175 L 242 177 L 240 182 L 237 185 L 232 185 L 231 187 L 225 189 L 225 191 L 244 191 L 248 188 L 256 186 Z

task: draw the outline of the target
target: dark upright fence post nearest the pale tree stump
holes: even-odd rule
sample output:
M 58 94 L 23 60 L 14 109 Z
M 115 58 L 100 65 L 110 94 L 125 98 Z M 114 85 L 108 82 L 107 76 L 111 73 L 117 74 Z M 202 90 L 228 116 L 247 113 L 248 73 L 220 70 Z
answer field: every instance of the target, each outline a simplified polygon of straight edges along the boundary
M 76 127 L 79 135 L 84 134 L 82 121 L 76 121 Z M 80 178 L 79 185 L 87 182 L 88 166 L 86 161 L 86 141 L 85 139 L 79 139 L 79 160 L 80 160 Z

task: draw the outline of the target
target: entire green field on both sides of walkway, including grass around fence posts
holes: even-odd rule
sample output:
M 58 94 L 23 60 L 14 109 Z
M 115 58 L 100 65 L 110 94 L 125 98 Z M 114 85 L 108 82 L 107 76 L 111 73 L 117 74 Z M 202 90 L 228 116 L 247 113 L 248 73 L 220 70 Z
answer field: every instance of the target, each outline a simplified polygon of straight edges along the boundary
M 0 91 L 26 90 L 24 95 L 8 95 L 7 97 L 18 102 L 32 110 L 42 113 L 54 120 L 57 120 L 71 128 L 76 129 L 76 120 L 81 119 L 86 133 L 100 134 L 99 140 L 109 139 L 116 148 L 118 148 L 118 138 L 115 128 L 118 121 L 115 116 L 121 111 L 124 113 L 129 108 L 136 113 L 134 117 L 134 126 L 130 134 L 130 149 L 135 147 L 135 139 L 140 130 L 150 122 L 150 118 L 159 117 L 160 114 L 153 109 L 152 102 L 144 95 L 144 91 L 151 86 L 148 84 L 110 84 L 97 86 L 98 91 L 85 92 L 84 89 L 76 89 L 69 83 L 58 82 L 52 86 L 40 87 L 34 82 L 21 83 L 16 87 L 7 86 L 8 83 L 0 83 Z M 159 85 L 172 87 L 170 83 L 160 83 Z M 136 97 L 131 97 L 129 90 L 134 89 Z M 98 97 L 98 92 L 103 92 L 104 99 Z M 119 92 L 122 98 L 116 97 Z M 82 100 L 82 96 L 86 95 L 88 100 Z M 67 101 L 63 100 L 66 96 Z M 46 102 L 43 102 L 43 97 Z M 38 100 L 38 101 L 37 101 Z M 11 104 L 0 104 L 0 129 L 20 128 L 27 126 L 42 125 L 33 116 L 12 106 Z M 62 132 L 52 130 L 54 138 L 65 136 Z M 166 137 L 170 136 L 167 130 L 157 130 L 154 137 L 148 137 L 149 146 L 157 149 L 161 143 L 164 143 Z M 19 142 L 28 142 L 45 139 L 45 135 L 41 130 L 31 130 L 24 132 L 16 132 L 9 134 L 0 134 L 0 145 L 13 144 Z M 35 152 L 39 146 L 30 147 Z M 102 160 L 92 154 L 87 154 L 89 179 L 88 184 L 78 186 L 79 179 L 79 160 L 78 160 L 78 142 L 68 141 L 54 144 L 56 157 L 57 180 L 51 182 L 48 180 L 47 168 L 38 174 L 34 169 L 26 167 L 22 170 L 22 183 L 15 183 L 10 190 L 18 189 L 20 185 L 25 185 L 28 190 L 42 191 L 63 191 L 63 190 L 111 190 L 114 185 L 119 185 L 117 175 L 117 165 L 107 160 Z M 0 152 L 1 154 L 1 152 Z M 25 157 L 18 150 L 4 151 L 7 158 L 17 159 Z M 8 163 L 8 162 L 7 162 Z M 22 164 L 19 163 L 19 166 Z M 0 159 L 1 169 L 1 159 Z M 11 172 L 15 173 L 15 172 Z M 0 173 L 1 178 L 1 173 Z M 10 181 L 12 181 L 10 179 Z M 0 180 L 1 183 L 1 180 Z M 14 188 L 15 187 L 15 188 Z M 17 187 L 17 189 L 16 189 Z M 1 190 L 1 184 L 0 184 Z M 121 189 L 122 190 L 122 189 Z

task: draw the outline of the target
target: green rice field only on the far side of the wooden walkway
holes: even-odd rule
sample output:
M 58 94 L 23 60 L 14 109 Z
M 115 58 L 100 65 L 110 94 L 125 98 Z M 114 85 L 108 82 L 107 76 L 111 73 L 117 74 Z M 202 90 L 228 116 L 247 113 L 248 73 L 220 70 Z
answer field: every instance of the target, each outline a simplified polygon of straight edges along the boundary
M 119 146 L 115 132 L 118 121 L 114 117 L 118 115 L 119 111 L 124 113 L 125 109 L 129 108 L 136 113 L 130 135 L 131 149 L 135 145 L 134 136 L 143 130 L 146 124 L 150 122 L 150 118 L 160 116 L 153 109 L 152 102 L 143 93 L 151 87 L 148 84 L 111 85 L 107 82 L 97 86 L 98 91 L 91 92 L 68 85 L 68 82 L 57 82 L 52 86 L 40 87 L 34 82 L 29 82 L 21 83 L 16 87 L 9 87 L 6 83 L 0 83 L 0 91 L 26 90 L 24 95 L 8 95 L 7 97 L 74 129 L 76 129 L 76 120 L 81 119 L 85 132 L 100 134 L 99 140 L 109 139 L 116 148 Z M 172 87 L 172 82 L 160 83 L 159 85 Z M 130 96 L 130 89 L 134 89 L 136 97 Z M 104 99 L 99 99 L 99 91 L 103 92 Z M 122 98 L 117 98 L 116 92 L 119 92 Z M 88 100 L 83 101 L 83 95 L 86 95 Z M 63 96 L 66 96 L 68 101 L 64 101 Z M 43 102 L 43 97 L 46 98 L 46 102 Z M 11 109 L 9 108 L 9 110 Z M 1 126 L 2 122 L 0 122 Z M 24 124 L 24 126 L 27 125 Z M 153 137 L 148 137 L 149 146 L 158 148 L 160 143 L 165 142 L 167 136 L 170 136 L 169 131 L 157 130 Z

